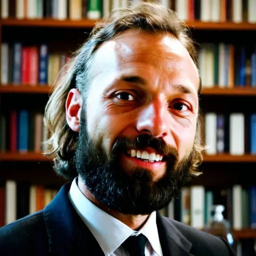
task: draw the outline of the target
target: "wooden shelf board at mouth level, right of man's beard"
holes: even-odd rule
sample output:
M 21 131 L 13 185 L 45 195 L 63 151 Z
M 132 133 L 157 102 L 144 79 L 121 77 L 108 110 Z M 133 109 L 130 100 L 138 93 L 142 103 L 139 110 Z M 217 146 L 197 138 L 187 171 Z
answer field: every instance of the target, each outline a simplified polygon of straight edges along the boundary
M 256 154 L 244 155 L 230 155 L 230 154 L 217 154 L 217 155 L 203 155 L 204 162 L 256 162 Z

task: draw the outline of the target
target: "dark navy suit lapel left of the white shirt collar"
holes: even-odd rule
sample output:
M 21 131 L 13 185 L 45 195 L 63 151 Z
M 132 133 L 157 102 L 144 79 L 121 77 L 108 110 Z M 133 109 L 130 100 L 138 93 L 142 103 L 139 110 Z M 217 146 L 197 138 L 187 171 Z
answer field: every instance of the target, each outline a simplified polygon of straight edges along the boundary
M 53 200 L 43 209 L 51 255 L 103 256 L 98 242 L 76 213 L 69 198 L 71 183 L 63 185 Z

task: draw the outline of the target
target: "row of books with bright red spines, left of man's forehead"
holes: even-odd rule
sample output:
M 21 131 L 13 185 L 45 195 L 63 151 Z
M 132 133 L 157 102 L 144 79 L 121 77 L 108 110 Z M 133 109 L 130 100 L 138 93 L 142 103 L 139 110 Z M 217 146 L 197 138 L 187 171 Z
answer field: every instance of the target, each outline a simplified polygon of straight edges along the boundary
M 25 46 L 20 42 L 1 44 L 1 84 L 48 84 L 61 77 L 69 60 L 67 53 L 49 53 L 48 46 Z

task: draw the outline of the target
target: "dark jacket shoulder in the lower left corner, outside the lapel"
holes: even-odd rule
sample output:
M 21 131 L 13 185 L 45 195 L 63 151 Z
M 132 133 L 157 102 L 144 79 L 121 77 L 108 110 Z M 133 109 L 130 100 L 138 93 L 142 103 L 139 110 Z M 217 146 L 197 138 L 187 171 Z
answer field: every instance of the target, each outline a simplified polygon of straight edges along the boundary
M 0 228 L 0 255 L 44 255 L 45 251 L 48 238 L 42 211 Z

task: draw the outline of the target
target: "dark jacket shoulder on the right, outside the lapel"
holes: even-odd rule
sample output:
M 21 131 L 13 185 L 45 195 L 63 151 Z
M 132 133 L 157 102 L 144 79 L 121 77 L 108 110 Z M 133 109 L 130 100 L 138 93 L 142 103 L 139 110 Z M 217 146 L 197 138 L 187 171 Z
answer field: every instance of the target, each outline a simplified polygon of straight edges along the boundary
M 179 221 L 166 218 L 170 221 L 179 232 L 192 244 L 191 253 L 195 255 L 207 255 L 217 256 L 234 256 L 234 252 L 231 249 L 228 242 L 221 237 L 206 233 L 198 230 L 194 227 L 181 223 Z

